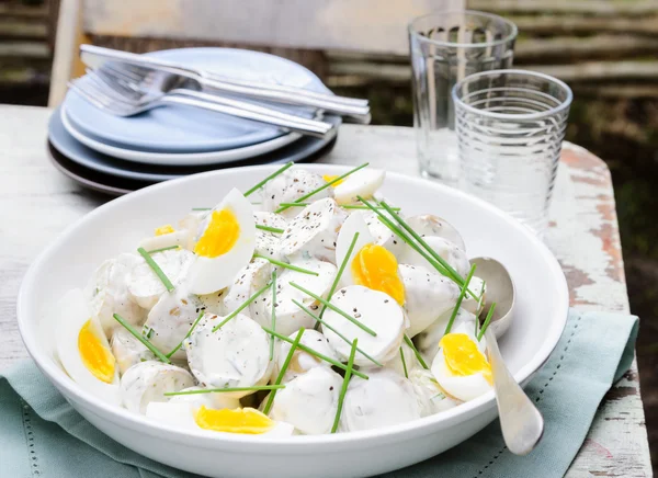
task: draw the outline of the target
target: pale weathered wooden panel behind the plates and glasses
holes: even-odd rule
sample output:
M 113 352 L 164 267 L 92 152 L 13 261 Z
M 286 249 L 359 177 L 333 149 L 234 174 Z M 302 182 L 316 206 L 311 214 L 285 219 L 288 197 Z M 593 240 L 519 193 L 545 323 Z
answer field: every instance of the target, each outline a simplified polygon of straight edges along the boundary
M 463 0 L 87 0 L 84 31 L 308 49 L 407 52 L 407 23 Z

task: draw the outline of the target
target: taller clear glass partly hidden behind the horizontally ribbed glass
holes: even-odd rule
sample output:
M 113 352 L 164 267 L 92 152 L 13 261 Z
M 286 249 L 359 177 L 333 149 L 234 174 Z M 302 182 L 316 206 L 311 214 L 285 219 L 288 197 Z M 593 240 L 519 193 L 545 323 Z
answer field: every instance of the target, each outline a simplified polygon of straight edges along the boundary
M 470 73 L 511 67 L 515 38 L 513 23 L 469 10 L 436 12 L 409 24 L 413 126 L 423 177 L 457 185 L 451 89 Z

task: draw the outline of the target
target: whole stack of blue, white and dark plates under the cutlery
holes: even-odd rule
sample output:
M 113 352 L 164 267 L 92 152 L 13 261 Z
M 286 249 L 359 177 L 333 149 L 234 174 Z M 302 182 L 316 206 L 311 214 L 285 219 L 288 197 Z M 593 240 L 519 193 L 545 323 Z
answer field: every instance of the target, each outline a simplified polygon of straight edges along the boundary
M 183 48 L 157 52 L 162 59 L 226 77 L 329 92 L 306 68 L 258 52 Z M 236 166 L 310 161 L 331 149 L 340 117 L 298 106 L 286 113 L 322 118 L 336 127 L 324 139 L 288 133 L 194 107 L 167 105 L 137 116 L 100 111 L 69 92 L 50 118 L 53 163 L 81 184 L 110 194 L 197 172 Z

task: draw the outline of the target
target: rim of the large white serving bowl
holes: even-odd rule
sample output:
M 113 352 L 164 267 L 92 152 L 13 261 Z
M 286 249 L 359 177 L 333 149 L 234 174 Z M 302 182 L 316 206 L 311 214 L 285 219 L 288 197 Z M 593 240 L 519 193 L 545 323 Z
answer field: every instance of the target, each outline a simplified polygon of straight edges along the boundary
M 347 166 L 338 164 L 303 164 L 303 167 L 315 171 L 333 170 L 336 172 L 345 171 L 349 169 L 349 167 Z M 276 167 L 265 164 L 231 168 L 229 170 L 209 171 L 144 187 L 139 191 L 110 201 L 103 204 L 102 206 L 97 207 L 92 212 L 88 213 L 87 215 L 78 219 L 75 224 L 66 228 L 63 232 L 60 232 L 59 236 L 36 257 L 36 259 L 30 265 L 27 272 L 25 273 L 25 276 L 23 277 L 23 282 L 21 284 L 21 288 L 19 291 L 19 296 L 16 300 L 16 319 L 19 323 L 19 331 L 21 333 L 21 338 L 23 339 L 23 343 L 27 349 L 27 352 L 35 361 L 38 368 L 56 386 L 56 388 L 65 389 L 68 394 L 73 396 L 77 401 L 83 403 L 87 409 L 93 410 L 93 413 L 97 416 L 99 414 L 99 412 L 94 409 L 100 409 L 102 412 L 111 416 L 114 422 L 121 420 L 122 422 L 118 423 L 120 426 L 146 433 L 158 439 L 166 437 L 167 440 L 179 443 L 189 443 L 189 440 L 191 437 L 194 437 L 196 439 L 194 446 L 197 447 L 216 448 L 217 446 L 223 446 L 224 448 L 232 448 L 234 451 L 243 452 L 243 445 L 249 445 L 249 449 L 251 452 L 259 451 L 264 453 L 274 453 L 276 451 L 288 448 L 291 446 L 302 449 L 306 447 L 321 447 L 330 445 L 332 446 L 332 451 L 339 451 L 341 447 L 348 447 L 354 442 L 365 441 L 368 442 L 371 445 L 375 445 L 377 443 L 397 441 L 397 439 L 400 435 L 413 431 L 417 431 L 421 434 L 431 434 L 436 430 L 445 429 L 456 423 L 464 422 L 470 417 L 480 414 L 481 412 L 495 406 L 494 390 L 489 390 L 487 394 L 474 400 L 464 402 L 453 409 L 435 413 L 429 417 L 423 417 L 421 419 L 413 420 L 410 422 L 399 423 L 396 425 L 349 433 L 324 435 L 295 435 L 288 437 L 270 439 L 266 436 L 213 434 L 212 432 L 207 431 L 181 430 L 171 425 L 163 425 L 147 419 L 146 416 L 137 414 L 115 405 L 100 401 L 94 395 L 82 389 L 82 387 L 80 387 L 71 378 L 69 378 L 68 375 L 66 375 L 66 373 L 59 366 L 57 366 L 53 357 L 43 348 L 38 346 L 37 334 L 29 332 L 30 326 L 27 325 L 27 319 L 25 318 L 26 312 L 24 311 L 24 309 L 29 307 L 27 303 L 31 300 L 31 297 L 29 297 L 27 294 L 32 289 L 32 283 L 36 280 L 36 271 L 41 268 L 41 264 L 54 253 L 55 249 L 59 248 L 61 243 L 66 242 L 69 236 L 75 235 L 84 221 L 89 220 L 90 217 L 103 214 L 106 209 L 117 207 L 118 205 L 126 202 L 139 200 L 143 196 L 149 195 L 151 191 L 175 187 L 178 184 L 184 182 L 194 182 L 200 177 L 220 177 L 227 173 L 234 174 L 236 172 L 239 173 L 240 171 L 248 170 L 270 172 L 275 171 Z M 557 317 L 558 320 L 555 321 L 553 327 L 549 329 L 542 346 L 535 352 L 532 358 L 514 374 L 514 379 L 518 383 L 525 382 L 535 372 L 537 372 L 548 360 L 555 346 L 557 345 L 557 342 L 566 326 L 569 308 L 569 293 L 566 278 L 559 266 L 559 263 L 557 262 L 557 259 L 553 255 L 548 248 L 537 237 L 535 237 L 532 234 L 532 231 L 530 231 L 525 226 L 517 221 L 507 213 L 496 208 L 495 206 L 484 202 L 483 200 L 470 196 L 462 191 L 444 186 L 442 184 L 429 182 L 421 178 L 413 178 L 395 172 L 387 172 L 387 175 L 388 174 L 395 178 L 396 181 L 411 183 L 419 187 L 438 189 L 444 191 L 444 193 L 457 195 L 464 201 L 475 202 L 477 203 L 478 207 L 486 209 L 487 213 L 499 216 L 500 218 L 504 219 L 508 224 L 510 224 L 511 227 L 518 229 L 527 240 L 530 240 L 535 246 L 535 248 L 537 249 L 538 253 L 543 257 L 548 268 L 552 269 L 555 273 L 554 275 L 561 278 L 558 284 L 558 294 L 561 298 L 561 307 Z M 104 420 L 107 420 L 107 418 L 102 418 Z M 167 435 L 163 436 L 162 433 L 167 433 Z

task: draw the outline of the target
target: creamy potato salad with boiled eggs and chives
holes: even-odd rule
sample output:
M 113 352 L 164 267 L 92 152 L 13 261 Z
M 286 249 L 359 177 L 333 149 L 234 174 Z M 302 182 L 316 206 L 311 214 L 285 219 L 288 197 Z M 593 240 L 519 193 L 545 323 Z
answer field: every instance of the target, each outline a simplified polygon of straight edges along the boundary
M 191 204 L 61 297 L 56 358 L 98 400 L 208 433 L 349 433 L 479 397 L 487 286 L 384 180 L 288 163 Z

